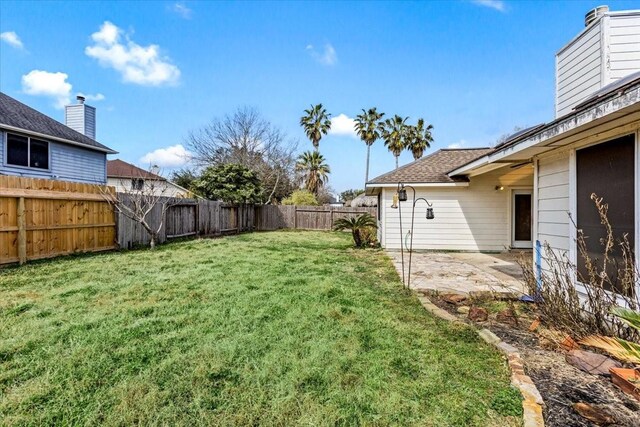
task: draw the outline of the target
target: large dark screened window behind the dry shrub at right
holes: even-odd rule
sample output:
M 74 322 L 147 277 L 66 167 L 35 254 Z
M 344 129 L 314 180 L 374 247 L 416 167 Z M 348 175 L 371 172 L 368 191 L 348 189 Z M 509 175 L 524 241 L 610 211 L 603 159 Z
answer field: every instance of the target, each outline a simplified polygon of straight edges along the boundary
M 602 197 L 609 205 L 607 218 L 613 229 L 616 242 L 627 235 L 631 249 L 635 246 L 635 141 L 627 135 L 609 142 L 576 151 L 576 205 L 577 226 L 585 236 L 589 258 L 602 263 L 604 247 L 601 240 L 606 230 L 600 223 L 600 216 L 591 194 Z M 607 274 L 616 289 L 617 269 L 623 265 L 620 248 L 612 251 L 614 263 L 609 264 Z M 578 271 L 588 277 L 585 261 L 577 255 Z M 616 265 L 617 264 L 617 265 Z

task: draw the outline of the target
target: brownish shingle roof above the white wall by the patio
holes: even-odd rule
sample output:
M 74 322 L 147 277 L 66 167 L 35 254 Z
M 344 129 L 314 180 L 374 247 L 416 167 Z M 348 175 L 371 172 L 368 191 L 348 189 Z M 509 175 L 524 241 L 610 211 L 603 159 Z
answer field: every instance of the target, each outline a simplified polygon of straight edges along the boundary
M 401 166 L 369 180 L 367 185 L 403 183 L 467 182 L 466 177 L 450 177 L 447 173 L 493 151 L 493 148 L 442 149 L 415 162 Z

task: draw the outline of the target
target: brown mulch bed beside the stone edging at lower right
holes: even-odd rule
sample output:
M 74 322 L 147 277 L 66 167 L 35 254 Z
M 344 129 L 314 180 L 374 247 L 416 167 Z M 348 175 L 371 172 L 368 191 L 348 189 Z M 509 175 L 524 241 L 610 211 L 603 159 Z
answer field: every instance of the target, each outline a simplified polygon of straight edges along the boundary
M 432 296 L 431 300 L 437 306 L 468 321 L 465 314 L 457 311 L 464 303 L 450 304 L 437 296 Z M 562 350 L 550 349 L 548 340 L 538 333 L 529 332 L 528 328 L 536 316 L 533 306 L 526 308 L 531 313 L 521 314 L 517 326 L 497 322 L 495 314 L 490 315 L 488 321 L 475 325 L 491 330 L 520 351 L 525 362 L 525 373 L 536 384 L 544 400 L 545 425 L 597 426 L 598 424 L 583 418 L 573 409 L 574 403 L 584 402 L 615 419 L 613 424 L 606 425 L 640 426 L 640 402 L 620 391 L 609 377 L 591 375 L 568 364 Z

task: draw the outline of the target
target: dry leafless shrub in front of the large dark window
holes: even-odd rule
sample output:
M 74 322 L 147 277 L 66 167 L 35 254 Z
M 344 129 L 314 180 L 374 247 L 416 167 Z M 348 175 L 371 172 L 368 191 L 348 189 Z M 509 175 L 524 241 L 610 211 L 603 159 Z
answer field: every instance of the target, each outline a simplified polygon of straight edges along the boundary
M 582 268 L 578 268 L 566 252 L 553 249 L 545 242 L 538 279 L 535 263 L 520 261 L 528 291 L 535 296 L 542 320 L 550 327 L 577 338 L 608 335 L 637 342 L 640 333 L 612 316 L 611 311 L 619 306 L 638 310 L 637 278 L 640 270 L 628 236 L 614 237 L 613 227 L 607 218 L 608 205 L 595 194 L 591 195 L 591 200 L 606 231 L 600 240 L 602 254 L 597 258 L 589 254 L 588 236 L 571 218 L 576 228 L 577 255 L 582 260 Z M 620 255 L 616 257 L 615 252 Z M 583 293 L 578 292 L 577 284 L 582 285 Z

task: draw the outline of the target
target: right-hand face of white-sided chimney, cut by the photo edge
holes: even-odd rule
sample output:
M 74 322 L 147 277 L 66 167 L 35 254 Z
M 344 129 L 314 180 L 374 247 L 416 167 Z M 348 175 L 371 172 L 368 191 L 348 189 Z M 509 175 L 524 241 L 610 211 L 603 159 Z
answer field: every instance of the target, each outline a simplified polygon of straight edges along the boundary
M 608 82 L 640 70 L 640 14 L 610 18 Z

